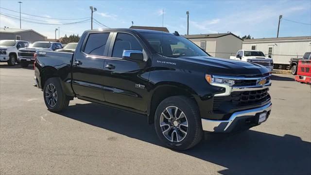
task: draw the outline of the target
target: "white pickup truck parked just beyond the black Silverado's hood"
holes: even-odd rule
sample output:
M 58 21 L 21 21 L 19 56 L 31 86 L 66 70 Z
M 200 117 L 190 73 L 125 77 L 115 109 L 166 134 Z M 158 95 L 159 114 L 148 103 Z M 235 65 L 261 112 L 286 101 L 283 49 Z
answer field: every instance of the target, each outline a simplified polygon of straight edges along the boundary
M 239 50 L 235 56 L 230 56 L 230 59 L 256 63 L 266 67 L 270 72 L 273 70 L 272 58 L 266 57 L 261 51 Z

